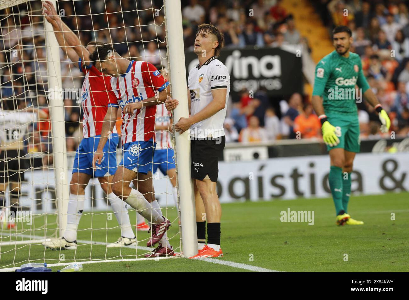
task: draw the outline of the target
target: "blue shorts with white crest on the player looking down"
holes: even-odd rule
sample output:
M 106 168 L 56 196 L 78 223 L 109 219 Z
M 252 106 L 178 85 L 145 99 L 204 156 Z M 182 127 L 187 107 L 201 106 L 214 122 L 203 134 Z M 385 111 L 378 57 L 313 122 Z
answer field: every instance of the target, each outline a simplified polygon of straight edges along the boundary
M 136 173 L 148 174 L 152 171 L 156 143 L 153 140 L 135 141 L 124 144 L 120 166 Z

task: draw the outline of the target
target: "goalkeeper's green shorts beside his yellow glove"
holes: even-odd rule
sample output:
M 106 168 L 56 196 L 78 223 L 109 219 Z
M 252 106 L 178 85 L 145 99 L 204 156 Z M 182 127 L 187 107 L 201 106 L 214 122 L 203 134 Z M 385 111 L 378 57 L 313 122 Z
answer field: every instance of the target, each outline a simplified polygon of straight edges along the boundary
M 335 126 L 338 131 L 341 131 L 340 136 L 338 136 L 339 144 L 335 147 L 327 145 L 327 150 L 343 148 L 346 151 L 360 152 L 361 140 L 358 115 L 356 113 L 326 113 L 326 116 L 328 117 L 328 121 Z

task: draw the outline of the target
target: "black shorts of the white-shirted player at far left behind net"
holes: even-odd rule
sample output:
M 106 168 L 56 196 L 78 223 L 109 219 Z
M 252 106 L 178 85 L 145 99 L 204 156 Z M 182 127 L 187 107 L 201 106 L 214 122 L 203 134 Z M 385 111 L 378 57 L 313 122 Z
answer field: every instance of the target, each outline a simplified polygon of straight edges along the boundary
M 30 168 L 23 149 L 2 150 L 0 154 L 0 184 L 24 181 L 24 171 Z

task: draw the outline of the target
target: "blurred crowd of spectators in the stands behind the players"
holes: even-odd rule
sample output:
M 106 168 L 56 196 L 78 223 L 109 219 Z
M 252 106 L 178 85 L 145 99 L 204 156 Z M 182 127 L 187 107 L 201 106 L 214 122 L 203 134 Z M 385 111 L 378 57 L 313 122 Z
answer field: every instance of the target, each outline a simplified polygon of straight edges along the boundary
M 408 1 L 310 0 L 328 30 L 317 37 L 294 18 L 294 0 L 182 0 L 183 37 L 187 51 L 193 49 L 196 28 L 202 22 L 215 24 L 225 35 L 226 48 L 281 47 L 303 44 L 314 62 L 320 43 L 330 43 L 330 31 L 347 25 L 353 32 L 351 51 L 362 58 L 364 74 L 392 120 L 391 131 L 409 133 L 409 12 Z M 74 4 L 73 4 L 74 3 Z M 157 11 L 152 11 L 152 3 Z M 83 44 L 98 40 L 115 45 L 124 57 L 144 60 L 158 69 L 166 67 L 166 39 L 162 1 L 92 0 L 58 1 L 63 21 L 79 34 Z M 40 1 L 29 6 L 40 14 Z M 22 8 L 27 7 L 23 4 Z M 302 9 L 302 7 L 296 7 Z M 292 11 L 293 10 L 293 11 Z M 345 13 L 347 11 L 347 13 Z M 0 82 L 2 109 L 33 105 L 48 111 L 47 66 L 43 17 L 7 18 L 2 13 Z M 92 15 L 92 17 L 90 17 Z M 318 26 L 318 25 L 317 25 Z M 312 39 L 319 38 L 316 44 Z M 19 41 L 23 41 L 22 46 Z M 143 42 L 142 42 L 143 41 Z M 315 52 L 315 53 L 314 53 Z M 75 151 L 81 129 L 80 94 L 83 73 L 61 51 L 61 75 L 65 93 L 68 151 Z M 229 101 L 225 132 L 227 142 L 267 142 L 279 139 L 320 138 L 321 125 L 310 104 L 310 89 L 282 99 L 271 98 L 264 89 L 241 91 Z M 76 96 L 75 96 L 76 94 Z M 74 95 L 74 97 L 73 97 Z M 377 114 L 366 102 L 358 103 L 362 138 L 379 137 Z M 49 122 L 30 128 L 29 151 L 41 149 L 49 140 Z M 39 140 L 43 140 L 40 143 Z

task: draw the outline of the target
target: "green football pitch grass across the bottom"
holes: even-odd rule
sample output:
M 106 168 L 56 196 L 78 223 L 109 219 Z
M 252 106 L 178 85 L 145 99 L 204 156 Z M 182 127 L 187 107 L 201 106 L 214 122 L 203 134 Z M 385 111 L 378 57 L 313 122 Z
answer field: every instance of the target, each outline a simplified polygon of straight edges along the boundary
M 352 196 L 348 213 L 365 222 L 362 226 L 336 226 L 333 201 L 327 199 L 297 199 L 288 201 L 238 202 L 222 204 L 222 250 L 224 257 L 208 260 L 171 258 L 83 264 L 83 272 L 108 271 L 408 271 L 409 256 L 409 193 L 387 193 L 378 196 Z M 314 224 L 281 222 L 281 211 L 314 211 Z M 135 213 L 130 213 L 135 224 Z M 391 218 L 394 220 L 391 220 Z M 51 216 L 49 216 L 51 218 Z M 173 222 L 169 236 L 173 247 L 179 247 L 178 222 L 175 209 L 168 211 Z M 112 215 L 108 227 L 117 222 Z M 91 227 L 91 230 L 81 230 Z M 36 221 L 37 222 L 37 221 Z M 36 224 L 37 225 L 37 224 Z M 55 225 L 54 225 L 55 226 Z M 81 218 L 77 251 L 50 251 L 41 244 L 0 246 L 0 267 L 18 267 L 24 260 L 45 258 L 57 263 L 113 258 L 135 258 L 147 249 L 106 249 L 105 244 L 83 244 L 81 241 L 114 242 L 119 228 L 106 233 L 105 213 L 85 214 Z M 2 241 L 10 232 L 2 231 Z M 41 235 L 44 230 L 35 234 Z M 148 233 L 138 232 L 139 246 L 146 246 Z M 14 240 L 16 238 L 14 237 Z M 15 248 L 19 248 L 15 250 Z M 177 249 L 180 251 L 180 249 Z M 41 260 L 42 262 L 44 260 Z M 41 262 L 36 260 L 36 262 Z M 61 261 L 62 262 L 62 261 Z M 16 263 L 16 265 L 13 265 Z M 223 263 L 223 264 L 221 264 Z M 234 264 L 235 263 L 235 264 Z M 53 271 L 63 267 L 52 267 Z M 261 269 L 263 268 L 263 269 Z

